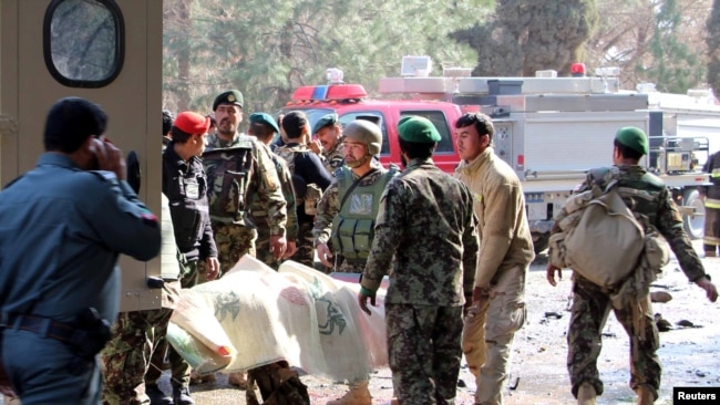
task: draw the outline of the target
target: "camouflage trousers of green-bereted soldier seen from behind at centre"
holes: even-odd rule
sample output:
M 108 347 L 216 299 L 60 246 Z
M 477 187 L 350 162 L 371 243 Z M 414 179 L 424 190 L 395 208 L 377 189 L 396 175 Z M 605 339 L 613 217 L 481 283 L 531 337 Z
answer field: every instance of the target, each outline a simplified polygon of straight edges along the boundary
M 454 404 L 462 307 L 385 303 L 388 356 L 401 404 Z

